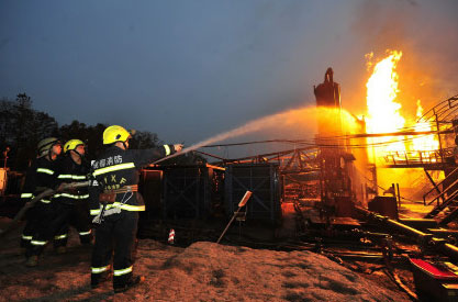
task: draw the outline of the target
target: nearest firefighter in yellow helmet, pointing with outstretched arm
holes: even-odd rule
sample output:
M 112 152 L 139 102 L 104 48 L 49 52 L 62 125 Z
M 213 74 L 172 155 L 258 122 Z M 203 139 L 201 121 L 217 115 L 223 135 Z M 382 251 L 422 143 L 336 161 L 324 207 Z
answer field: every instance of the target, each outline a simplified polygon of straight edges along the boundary
M 133 251 L 138 212 L 145 211 L 137 190 L 138 169 L 156 159 L 180 152 L 181 144 L 153 149 L 129 149 L 130 133 L 113 125 L 103 132 L 108 149 L 92 164 L 90 213 L 94 215 L 96 243 L 91 260 L 91 287 L 108 280 L 113 257 L 113 289 L 122 292 L 144 280 L 133 276 Z

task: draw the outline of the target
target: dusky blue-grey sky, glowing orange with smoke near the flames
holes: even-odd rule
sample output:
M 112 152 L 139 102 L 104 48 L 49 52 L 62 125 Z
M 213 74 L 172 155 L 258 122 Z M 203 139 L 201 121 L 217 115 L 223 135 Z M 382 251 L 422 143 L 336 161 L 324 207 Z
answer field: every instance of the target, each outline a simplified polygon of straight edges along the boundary
M 427 109 L 458 93 L 457 13 L 455 0 L 2 0 L 0 98 L 189 145 L 313 105 L 329 66 L 361 114 L 365 54 L 390 48 L 405 110 Z

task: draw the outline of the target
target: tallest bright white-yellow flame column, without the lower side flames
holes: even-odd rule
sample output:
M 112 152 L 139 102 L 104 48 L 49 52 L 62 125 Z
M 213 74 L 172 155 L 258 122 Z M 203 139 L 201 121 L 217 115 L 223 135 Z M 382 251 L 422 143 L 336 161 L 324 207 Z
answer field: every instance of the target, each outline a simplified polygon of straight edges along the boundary
M 373 54 L 366 55 L 371 58 Z M 401 59 L 402 52 L 389 52 L 389 56 L 377 63 L 373 67 L 373 72 L 366 83 L 367 88 L 367 132 L 368 133 L 390 133 L 399 132 L 404 127 L 405 119 L 401 115 L 401 103 L 396 102 L 399 92 L 398 80 L 399 76 L 395 72 L 398 61 Z M 372 65 L 369 64 L 369 67 Z M 387 142 L 395 143 L 386 144 Z M 388 150 L 405 150 L 403 142 L 399 142 L 400 137 L 383 137 L 375 138 L 372 143 L 384 143 L 378 147 L 378 153 Z M 377 158 L 373 152 L 372 160 Z

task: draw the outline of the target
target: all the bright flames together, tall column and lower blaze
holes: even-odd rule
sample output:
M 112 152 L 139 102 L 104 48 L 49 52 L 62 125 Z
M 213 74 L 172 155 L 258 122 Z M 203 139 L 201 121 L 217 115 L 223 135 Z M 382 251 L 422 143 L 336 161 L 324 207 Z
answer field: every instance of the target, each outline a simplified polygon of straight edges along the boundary
M 432 124 L 426 122 L 406 123 L 406 120 L 421 120 L 423 116 L 423 107 L 417 100 L 416 116 L 401 115 L 401 102 L 396 100 L 399 93 L 399 75 L 396 66 L 402 57 L 402 52 L 388 52 L 388 57 L 377 64 L 369 61 L 368 68 L 373 71 L 366 83 L 367 87 L 367 108 L 368 115 L 366 119 L 368 133 L 392 133 L 400 132 L 406 126 L 414 128 L 415 132 L 432 131 Z M 373 54 L 366 55 L 367 59 L 372 59 Z M 416 118 L 416 119 L 415 119 Z M 377 164 L 394 163 L 437 163 L 439 148 L 438 138 L 435 135 L 412 135 L 412 136 L 391 136 L 372 138 L 372 153 L 368 154 L 369 159 Z M 388 157 L 386 157 L 389 155 Z M 420 170 L 409 169 L 378 169 L 377 177 L 379 183 L 389 187 L 391 183 L 399 182 L 401 186 L 411 187 L 414 181 L 424 178 Z M 404 183 L 404 184 L 403 184 Z

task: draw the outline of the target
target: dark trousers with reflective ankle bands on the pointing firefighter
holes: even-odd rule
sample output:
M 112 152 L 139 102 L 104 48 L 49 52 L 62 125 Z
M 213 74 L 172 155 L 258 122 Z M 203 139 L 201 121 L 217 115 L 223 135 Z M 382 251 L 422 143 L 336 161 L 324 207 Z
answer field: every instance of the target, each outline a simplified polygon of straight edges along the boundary
M 122 288 L 131 281 L 138 212 L 121 211 L 105 216 L 96 228 L 92 250 L 91 282 L 98 283 L 102 273 L 110 269 L 113 257 L 113 288 Z

